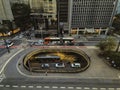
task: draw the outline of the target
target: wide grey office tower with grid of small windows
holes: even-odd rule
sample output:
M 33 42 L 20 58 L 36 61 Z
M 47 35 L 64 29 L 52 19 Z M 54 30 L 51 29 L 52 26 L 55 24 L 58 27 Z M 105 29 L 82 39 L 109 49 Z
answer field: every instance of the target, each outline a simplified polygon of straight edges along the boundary
M 118 0 L 69 0 L 69 29 L 109 27 L 117 2 Z

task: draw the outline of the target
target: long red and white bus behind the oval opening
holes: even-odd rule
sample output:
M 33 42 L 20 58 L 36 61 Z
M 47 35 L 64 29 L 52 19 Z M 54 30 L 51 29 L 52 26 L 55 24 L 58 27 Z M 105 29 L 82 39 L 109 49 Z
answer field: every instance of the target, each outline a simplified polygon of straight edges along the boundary
M 46 37 L 44 38 L 45 45 L 73 45 L 73 37 Z

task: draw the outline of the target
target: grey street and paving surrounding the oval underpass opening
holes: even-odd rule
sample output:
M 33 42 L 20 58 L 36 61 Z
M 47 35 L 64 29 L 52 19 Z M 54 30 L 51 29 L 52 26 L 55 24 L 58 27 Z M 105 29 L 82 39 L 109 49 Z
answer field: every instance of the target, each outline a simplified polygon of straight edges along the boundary
M 82 42 L 83 43 L 83 42 Z M 11 49 L 9 60 L 3 65 L 0 90 L 120 90 L 120 71 L 107 65 L 97 56 L 98 48 L 95 42 L 84 42 L 83 46 L 56 46 L 57 48 L 74 48 L 83 50 L 90 56 L 90 67 L 80 73 L 32 73 L 22 65 L 23 57 L 32 50 L 55 48 L 55 46 L 32 46 Z M 24 44 L 24 45 L 27 45 Z M 17 50 L 18 49 L 18 50 Z M 5 57 L 6 54 L 3 56 Z M 1 58 L 3 57 L 1 56 Z M 19 65 L 20 64 L 20 65 Z

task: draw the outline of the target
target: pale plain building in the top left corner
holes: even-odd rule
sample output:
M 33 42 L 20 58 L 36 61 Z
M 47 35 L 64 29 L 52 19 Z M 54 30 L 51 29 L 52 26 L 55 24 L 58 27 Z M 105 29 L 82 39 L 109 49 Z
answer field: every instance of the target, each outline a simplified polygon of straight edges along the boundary
M 9 0 L 0 0 L 0 22 L 3 20 L 10 20 L 12 21 L 13 14 L 10 6 Z

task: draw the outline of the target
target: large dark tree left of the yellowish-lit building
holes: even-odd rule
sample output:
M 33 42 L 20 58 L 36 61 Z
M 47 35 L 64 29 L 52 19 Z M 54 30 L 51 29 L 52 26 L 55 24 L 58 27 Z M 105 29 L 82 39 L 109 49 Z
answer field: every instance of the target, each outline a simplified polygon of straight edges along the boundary
M 14 3 L 12 12 L 15 18 L 15 23 L 21 30 L 29 28 L 31 25 L 30 7 L 24 3 Z

